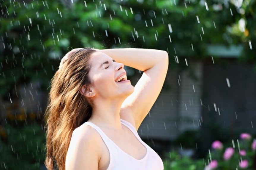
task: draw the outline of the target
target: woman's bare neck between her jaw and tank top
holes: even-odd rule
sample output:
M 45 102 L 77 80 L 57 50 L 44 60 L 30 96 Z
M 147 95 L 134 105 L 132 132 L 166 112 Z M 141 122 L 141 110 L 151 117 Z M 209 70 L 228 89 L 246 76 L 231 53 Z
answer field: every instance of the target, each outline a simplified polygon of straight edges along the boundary
M 120 110 L 123 100 L 94 100 L 94 108 L 89 121 L 97 126 L 121 130 Z

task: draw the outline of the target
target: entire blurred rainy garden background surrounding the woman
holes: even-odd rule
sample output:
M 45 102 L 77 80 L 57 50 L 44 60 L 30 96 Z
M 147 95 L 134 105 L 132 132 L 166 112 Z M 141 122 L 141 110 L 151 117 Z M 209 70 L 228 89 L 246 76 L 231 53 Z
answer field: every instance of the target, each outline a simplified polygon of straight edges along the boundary
M 138 131 L 165 169 L 253 169 L 255 0 L 0 0 L 0 10 L 0 169 L 45 169 L 49 82 L 78 47 L 168 52 Z M 126 70 L 135 84 L 141 72 Z

